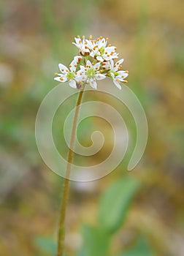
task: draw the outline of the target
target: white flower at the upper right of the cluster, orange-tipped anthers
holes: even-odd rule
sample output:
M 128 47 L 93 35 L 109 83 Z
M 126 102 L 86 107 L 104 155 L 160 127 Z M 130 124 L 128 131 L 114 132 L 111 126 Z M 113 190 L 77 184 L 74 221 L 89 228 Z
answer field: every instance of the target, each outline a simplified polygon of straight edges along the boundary
M 91 45 L 91 49 L 92 51 L 90 56 L 93 58 L 96 57 L 98 61 L 110 61 L 111 59 L 118 58 L 118 53 L 115 52 L 115 46 L 107 46 L 107 39 L 104 39 L 103 37 L 97 39 L 96 44 L 93 45 L 93 48 Z

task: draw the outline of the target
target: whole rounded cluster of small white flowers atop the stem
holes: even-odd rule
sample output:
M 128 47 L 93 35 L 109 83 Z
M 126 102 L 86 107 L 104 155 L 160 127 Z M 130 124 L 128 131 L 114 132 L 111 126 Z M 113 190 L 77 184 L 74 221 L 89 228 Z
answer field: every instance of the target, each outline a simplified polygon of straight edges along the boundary
M 75 56 L 69 68 L 64 64 L 58 64 L 61 73 L 55 73 L 54 80 L 58 82 L 69 81 L 72 88 L 83 89 L 85 84 L 89 84 L 93 89 L 97 89 L 96 80 L 111 78 L 118 89 L 121 89 L 120 83 L 127 83 L 129 72 L 122 70 L 123 59 L 118 59 L 117 48 L 107 45 L 108 38 L 99 37 L 98 39 L 82 39 L 77 36 L 74 38 L 74 45 L 80 50 L 80 55 Z

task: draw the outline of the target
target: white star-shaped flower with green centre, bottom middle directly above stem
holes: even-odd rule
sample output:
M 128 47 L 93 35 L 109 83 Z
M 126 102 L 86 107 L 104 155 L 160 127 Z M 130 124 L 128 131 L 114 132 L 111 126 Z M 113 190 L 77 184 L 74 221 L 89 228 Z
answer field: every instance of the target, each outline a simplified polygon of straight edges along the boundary
M 100 74 L 99 72 L 100 62 L 96 64 L 91 64 L 91 61 L 87 61 L 86 66 L 80 66 L 80 70 L 77 72 L 80 75 L 80 78 L 86 80 L 86 83 L 89 83 L 93 89 L 97 89 L 96 80 L 102 80 L 106 78 L 105 75 Z

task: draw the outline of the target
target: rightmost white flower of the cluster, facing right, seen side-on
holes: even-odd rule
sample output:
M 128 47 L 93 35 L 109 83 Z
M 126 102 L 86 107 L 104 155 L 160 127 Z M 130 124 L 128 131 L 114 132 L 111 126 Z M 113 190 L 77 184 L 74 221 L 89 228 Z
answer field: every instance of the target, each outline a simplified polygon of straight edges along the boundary
M 129 75 L 127 70 L 120 70 L 120 64 L 123 63 L 123 61 L 123 59 L 120 59 L 114 64 L 114 61 L 111 60 L 110 76 L 112 77 L 113 83 L 118 87 L 118 89 L 121 89 L 120 82 L 127 83 L 125 78 L 127 78 Z

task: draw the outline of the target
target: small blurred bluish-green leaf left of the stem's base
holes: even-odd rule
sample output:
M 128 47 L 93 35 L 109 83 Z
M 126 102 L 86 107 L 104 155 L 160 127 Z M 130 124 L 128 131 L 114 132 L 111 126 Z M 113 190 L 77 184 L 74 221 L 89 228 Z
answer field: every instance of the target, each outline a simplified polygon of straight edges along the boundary
M 35 245 L 38 249 L 47 252 L 48 255 L 54 256 L 56 254 L 56 244 L 49 238 L 37 237 Z

